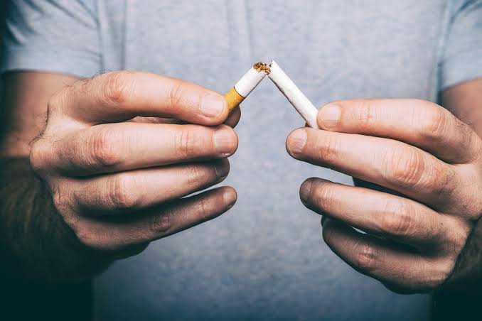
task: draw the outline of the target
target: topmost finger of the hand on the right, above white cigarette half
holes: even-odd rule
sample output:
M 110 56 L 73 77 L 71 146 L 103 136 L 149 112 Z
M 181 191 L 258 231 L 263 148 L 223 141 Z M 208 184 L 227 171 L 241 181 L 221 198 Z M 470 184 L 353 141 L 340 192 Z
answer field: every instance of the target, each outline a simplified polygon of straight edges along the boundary
M 342 100 L 321 108 L 317 120 L 321 129 L 405 141 L 451 163 L 470 163 L 481 151 L 470 126 L 418 99 Z

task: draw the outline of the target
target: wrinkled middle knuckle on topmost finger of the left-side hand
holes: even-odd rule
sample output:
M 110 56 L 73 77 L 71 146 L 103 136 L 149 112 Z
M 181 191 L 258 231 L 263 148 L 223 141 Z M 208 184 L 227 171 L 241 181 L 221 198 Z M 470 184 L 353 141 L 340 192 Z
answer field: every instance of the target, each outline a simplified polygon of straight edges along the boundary
M 126 102 L 134 87 L 131 76 L 132 72 L 129 71 L 110 72 L 106 76 L 103 91 L 105 100 L 114 104 Z

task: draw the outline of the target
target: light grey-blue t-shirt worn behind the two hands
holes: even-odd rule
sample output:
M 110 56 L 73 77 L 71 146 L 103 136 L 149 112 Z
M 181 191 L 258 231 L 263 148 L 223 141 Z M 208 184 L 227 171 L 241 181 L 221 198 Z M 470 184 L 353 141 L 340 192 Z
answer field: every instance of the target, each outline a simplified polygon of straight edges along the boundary
M 318 106 L 437 101 L 482 76 L 478 0 L 13 2 L 2 71 L 148 70 L 226 92 L 274 58 Z M 96 320 L 426 320 L 429 295 L 391 293 L 323 243 L 299 185 L 351 179 L 288 156 L 304 121 L 282 94 L 262 82 L 242 113 L 235 207 L 114 263 L 95 283 Z

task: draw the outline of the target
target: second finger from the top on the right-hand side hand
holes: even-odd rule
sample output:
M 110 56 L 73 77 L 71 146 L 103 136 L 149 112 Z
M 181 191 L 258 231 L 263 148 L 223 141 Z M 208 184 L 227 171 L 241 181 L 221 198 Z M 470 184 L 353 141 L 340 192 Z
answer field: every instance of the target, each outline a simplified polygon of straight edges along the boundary
M 453 210 L 457 168 L 400 141 L 315 129 L 296 129 L 286 149 L 296 159 L 338 170 L 401 192 L 438 209 Z

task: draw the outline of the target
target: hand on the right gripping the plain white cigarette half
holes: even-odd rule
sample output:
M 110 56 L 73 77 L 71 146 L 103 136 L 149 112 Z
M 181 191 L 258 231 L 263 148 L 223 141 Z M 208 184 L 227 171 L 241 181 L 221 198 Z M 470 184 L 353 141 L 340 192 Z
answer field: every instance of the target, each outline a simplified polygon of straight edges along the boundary
M 396 292 L 451 281 L 482 212 L 477 134 L 437 104 L 412 99 L 333 102 L 317 121 L 324 130 L 289 135 L 289 154 L 372 187 L 320 178 L 301 185 L 304 205 L 326 216 L 326 244 Z

